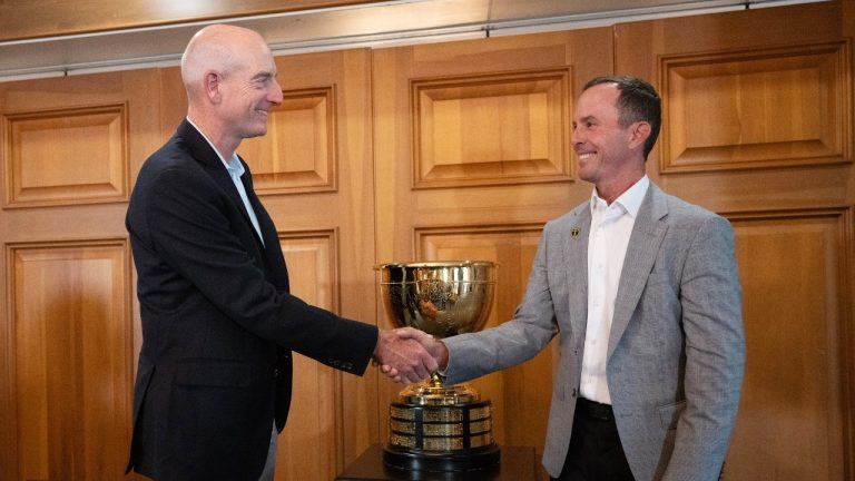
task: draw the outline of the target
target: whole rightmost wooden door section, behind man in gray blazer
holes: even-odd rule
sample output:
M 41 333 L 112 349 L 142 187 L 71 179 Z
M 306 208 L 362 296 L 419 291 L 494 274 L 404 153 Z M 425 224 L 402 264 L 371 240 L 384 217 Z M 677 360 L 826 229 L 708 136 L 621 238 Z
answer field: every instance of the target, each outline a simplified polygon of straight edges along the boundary
M 736 228 L 747 364 L 728 480 L 852 478 L 845 4 L 852 18 L 823 2 L 616 27 L 617 72 L 664 98 L 648 173 Z

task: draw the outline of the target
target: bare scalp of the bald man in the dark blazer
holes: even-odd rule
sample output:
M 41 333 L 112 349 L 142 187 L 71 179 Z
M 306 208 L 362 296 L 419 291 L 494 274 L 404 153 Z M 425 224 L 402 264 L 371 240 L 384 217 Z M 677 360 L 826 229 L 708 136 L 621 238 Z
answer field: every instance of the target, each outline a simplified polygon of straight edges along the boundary
M 253 30 L 213 24 L 196 32 L 181 56 L 181 80 L 190 102 L 200 94 L 206 72 L 226 77 L 244 68 L 245 59 L 254 55 L 269 56 L 271 51 Z

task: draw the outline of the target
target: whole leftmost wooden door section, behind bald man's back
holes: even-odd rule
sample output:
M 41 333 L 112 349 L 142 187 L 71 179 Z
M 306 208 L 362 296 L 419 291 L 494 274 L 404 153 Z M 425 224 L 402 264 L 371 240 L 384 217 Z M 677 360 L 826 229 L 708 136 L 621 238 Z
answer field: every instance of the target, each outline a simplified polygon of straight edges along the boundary
M 0 479 L 126 479 L 139 324 L 124 217 L 158 145 L 155 79 L 0 84 Z

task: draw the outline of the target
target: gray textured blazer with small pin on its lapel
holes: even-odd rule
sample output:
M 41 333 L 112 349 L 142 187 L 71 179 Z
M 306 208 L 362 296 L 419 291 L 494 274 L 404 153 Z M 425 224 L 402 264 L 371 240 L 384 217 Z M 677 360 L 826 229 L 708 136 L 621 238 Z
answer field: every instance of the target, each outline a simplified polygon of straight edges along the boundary
M 520 364 L 558 334 L 543 465 L 558 477 L 579 395 L 588 311 L 586 202 L 549 222 L 511 321 L 445 340 L 449 383 Z M 741 288 L 730 224 L 662 193 L 632 228 L 609 338 L 607 377 L 638 481 L 716 480 L 745 364 Z

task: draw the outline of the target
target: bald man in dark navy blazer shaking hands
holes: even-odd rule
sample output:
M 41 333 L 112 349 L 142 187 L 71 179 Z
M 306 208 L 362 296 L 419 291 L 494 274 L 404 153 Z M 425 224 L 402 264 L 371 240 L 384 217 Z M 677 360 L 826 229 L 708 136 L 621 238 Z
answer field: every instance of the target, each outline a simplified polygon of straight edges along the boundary
M 288 294 L 276 228 L 235 154 L 266 134 L 283 99 L 275 75 L 256 32 L 196 33 L 181 59 L 187 118 L 131 195 L 142 347 L 128 471 L 158 481 L 258 480 L 287 418 L 292 351 L 360 375 L 372 359 L 410 381 L 436 369 L 400 332 Z

